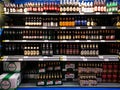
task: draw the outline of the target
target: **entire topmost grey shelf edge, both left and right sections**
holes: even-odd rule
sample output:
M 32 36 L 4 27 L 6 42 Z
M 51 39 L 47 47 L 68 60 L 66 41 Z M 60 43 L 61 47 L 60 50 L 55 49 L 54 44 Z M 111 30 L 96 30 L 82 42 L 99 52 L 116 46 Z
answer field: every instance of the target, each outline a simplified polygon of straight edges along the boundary
M 3 15 L 120 15 L 120 13 L 112 13 L 112 12 L 106 12 L 106 13 L 47 13 L 47 12 L 26 12 L 26 13 L 3 13 Z

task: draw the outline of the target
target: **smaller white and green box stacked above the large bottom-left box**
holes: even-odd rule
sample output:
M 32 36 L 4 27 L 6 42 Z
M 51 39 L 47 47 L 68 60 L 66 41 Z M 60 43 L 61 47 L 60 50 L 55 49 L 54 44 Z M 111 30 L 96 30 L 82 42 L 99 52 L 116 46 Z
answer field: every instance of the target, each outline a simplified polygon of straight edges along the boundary
M 25 64 L 21 62 L 3 62 L 5 72 L 20 72 L 24 66 Z

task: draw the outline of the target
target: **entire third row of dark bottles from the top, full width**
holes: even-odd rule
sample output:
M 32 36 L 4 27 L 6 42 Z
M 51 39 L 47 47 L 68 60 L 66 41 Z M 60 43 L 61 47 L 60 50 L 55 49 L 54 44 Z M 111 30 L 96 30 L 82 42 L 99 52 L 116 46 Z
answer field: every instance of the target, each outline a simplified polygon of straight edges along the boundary
M 115 30 L 4 30 L 2 36 L 3 40 L 119 40 L 115 34 Z

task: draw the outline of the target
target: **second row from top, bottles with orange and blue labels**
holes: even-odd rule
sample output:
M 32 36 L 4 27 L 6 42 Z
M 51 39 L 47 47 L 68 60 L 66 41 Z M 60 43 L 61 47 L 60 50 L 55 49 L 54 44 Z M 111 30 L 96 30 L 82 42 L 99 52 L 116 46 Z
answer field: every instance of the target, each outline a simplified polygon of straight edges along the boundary
M 104 18 L 104 21 L 103 21 Z M 18 19 L 17 21 L 15 21 Z M 75 26 L 120 26 L 120 16 L 25 16 L 6 19 L 5 26 L 45 26 L 45 27 L 75 27 Z M 43 28 L 46 29 L 46 28 Z

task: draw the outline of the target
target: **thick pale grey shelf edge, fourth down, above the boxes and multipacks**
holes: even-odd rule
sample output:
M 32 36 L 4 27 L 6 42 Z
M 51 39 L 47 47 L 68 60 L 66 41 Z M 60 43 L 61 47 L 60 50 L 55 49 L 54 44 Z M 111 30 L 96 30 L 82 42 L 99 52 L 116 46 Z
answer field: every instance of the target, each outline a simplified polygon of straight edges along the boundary
M 117 55 L 99 55 L 99 56 L 3 56 L 2 61 L 119 61 Z

